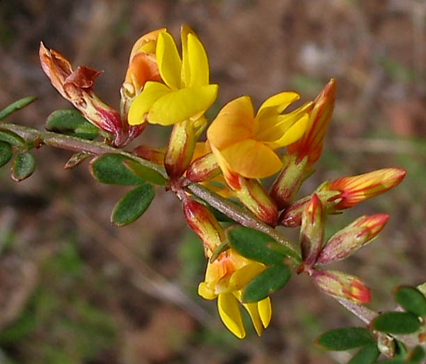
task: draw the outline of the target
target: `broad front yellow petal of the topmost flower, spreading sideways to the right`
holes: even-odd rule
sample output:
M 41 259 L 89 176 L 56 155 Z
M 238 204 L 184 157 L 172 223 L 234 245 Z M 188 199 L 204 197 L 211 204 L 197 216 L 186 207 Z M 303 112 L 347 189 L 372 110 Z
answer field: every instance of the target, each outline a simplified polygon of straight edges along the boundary
M 216 84 L 209 84 L 172 91 L 152 105 L 148 121 L 165 126 L 190 118 L 198 119 L 216 100 L 217 90 Z

